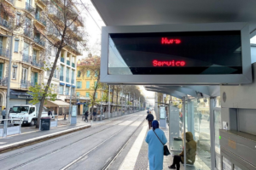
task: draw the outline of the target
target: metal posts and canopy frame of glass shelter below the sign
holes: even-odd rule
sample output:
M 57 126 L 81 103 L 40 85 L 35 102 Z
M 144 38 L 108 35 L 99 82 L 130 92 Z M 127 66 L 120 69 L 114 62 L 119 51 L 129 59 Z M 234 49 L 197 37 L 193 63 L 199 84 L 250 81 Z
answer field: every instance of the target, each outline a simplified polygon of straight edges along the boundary
M 158 92 L 161 94 L 169 94 L 177 99 L 182 99 L 183 102 L 183 139 L 186 141 L 186 106 L 192 104 L 191 99 L 210 99 L 210 138 L 211 138 L 211 169 L 217 170 L 216 168 L 216 156 L 215 156 L 215 131 L 214 131 L 214 111 L 220 111 L 220 108 L 215 107 L 216 97 L 220 95 L 219 86 L 144 86 L 146 90 Z M 186 105 L 188 102 L 188 105 Z M 188 108 L 188 116 L 191 109 Z M 169 121 L 170 122 L 170 121 Z M 188 122 L 189 126 L 189 122 Z M 169 139 L 170 140 L 170 139 Z M 184 165 L 186 165 L 186 144 L 184 144 Z M 186 169 L 186 166 L 184 166 Z

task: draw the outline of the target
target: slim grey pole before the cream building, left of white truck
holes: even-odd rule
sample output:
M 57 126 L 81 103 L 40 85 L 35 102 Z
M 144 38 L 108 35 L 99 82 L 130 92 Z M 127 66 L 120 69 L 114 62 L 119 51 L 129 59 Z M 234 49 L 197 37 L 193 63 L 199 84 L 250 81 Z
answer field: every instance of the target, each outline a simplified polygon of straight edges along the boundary
M 10 79 L 12 71 L 12 56 L 13 56 L 13 36 L 6 36 L 11 38 L 10 50 L 9 50 L 9 72 L 7 81 L 7 94 L 6 94 L 6 118 L 9 118 L 9 91 L 10 91 Z

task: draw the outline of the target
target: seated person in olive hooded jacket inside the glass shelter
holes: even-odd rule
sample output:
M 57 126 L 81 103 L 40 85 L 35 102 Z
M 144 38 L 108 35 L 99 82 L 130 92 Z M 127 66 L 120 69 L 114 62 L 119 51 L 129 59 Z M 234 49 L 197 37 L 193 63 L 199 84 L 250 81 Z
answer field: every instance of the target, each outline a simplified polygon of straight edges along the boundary
M 191 132 L 186 133 L 186 140 L 186 164 L 193 165 L 195 162 L 196 142 L 193 139 L 193 134 Z M 178 156 L 173 156 L 172 165 L 169 166 L 169 168 L 177 168 L 177 170 L 179 170 L 179 162 L 184 163 L 184 148 Z

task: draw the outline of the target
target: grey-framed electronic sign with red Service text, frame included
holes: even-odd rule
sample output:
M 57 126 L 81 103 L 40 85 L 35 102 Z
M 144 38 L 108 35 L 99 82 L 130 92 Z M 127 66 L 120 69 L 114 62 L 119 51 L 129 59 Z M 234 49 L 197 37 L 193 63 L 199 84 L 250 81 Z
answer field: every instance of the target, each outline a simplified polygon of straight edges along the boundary
M 252 82 L 247 23 L 102 27 L 101 82 Z

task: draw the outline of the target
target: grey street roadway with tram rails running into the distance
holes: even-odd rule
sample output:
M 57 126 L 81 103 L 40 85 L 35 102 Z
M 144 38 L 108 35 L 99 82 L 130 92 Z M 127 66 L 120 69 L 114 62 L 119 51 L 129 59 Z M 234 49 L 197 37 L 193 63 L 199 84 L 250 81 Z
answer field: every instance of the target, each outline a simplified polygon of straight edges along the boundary
M 132 135 L 139 133 L 146 111 L 0 155 L 3 169 L 88 169 L 107 166 Z M 127 150 L 127 148 L 126 148 Z M 122 158 L 116 159 L 122 162 Z

